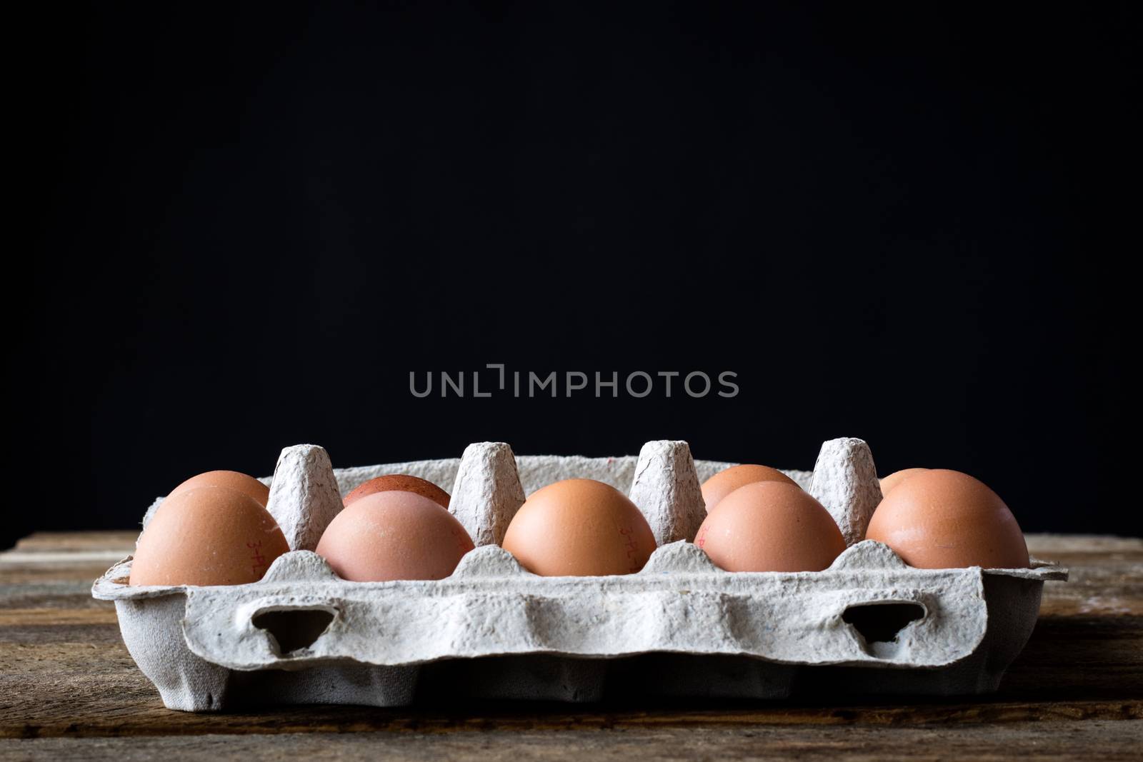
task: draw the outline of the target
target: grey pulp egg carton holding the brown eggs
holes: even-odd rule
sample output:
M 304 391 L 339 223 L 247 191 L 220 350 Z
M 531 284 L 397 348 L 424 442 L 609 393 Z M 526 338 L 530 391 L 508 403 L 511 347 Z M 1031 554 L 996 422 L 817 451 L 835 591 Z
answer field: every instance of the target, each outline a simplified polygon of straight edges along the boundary
M 131 559 L 95 581 L 115 602 L 131 657 L 171 709 L 264 704 L 400 706 L 433 697 L 592 701 L 605 695 L 780 699 L 832 693 L 981 693 L 1024 647 L 1045 580 L 1064 569 L 914 569 L 863 540 L 881 490 L 858 439 L 822 446 L 786 472 L 848 545 L 814 572 L 727 572 L 689 540 L 700 484 L 732 463 L 654 441 L 616 458 L 463 457 L 333 468 L 326 451 L 282 450 L 267 510 L 291 551 L 257 583 L 130 586 Z M 313 553 L 361 482 L 407 473 L 451 484 L 449 511 L 477 548 L 440 580 L 354 583 Z M 638 573 L 539 577 L 502 550 L 525 495 L 589 478 L 625 491 L 658 545 Z M 157 500 L 146 521 L 161 503 Z

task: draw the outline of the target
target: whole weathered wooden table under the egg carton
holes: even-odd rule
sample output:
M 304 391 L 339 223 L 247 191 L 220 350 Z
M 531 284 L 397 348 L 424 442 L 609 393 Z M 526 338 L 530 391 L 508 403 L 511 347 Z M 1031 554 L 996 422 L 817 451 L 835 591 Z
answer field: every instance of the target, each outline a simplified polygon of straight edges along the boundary
M 91 581 L 135 532 L 40 534 L 0 554 L 0 759 L 1143 759 L 1143 540 L 1029 537 L 1070 567 L 999 693 L 842 705 L 495 704 L 163 708 Z

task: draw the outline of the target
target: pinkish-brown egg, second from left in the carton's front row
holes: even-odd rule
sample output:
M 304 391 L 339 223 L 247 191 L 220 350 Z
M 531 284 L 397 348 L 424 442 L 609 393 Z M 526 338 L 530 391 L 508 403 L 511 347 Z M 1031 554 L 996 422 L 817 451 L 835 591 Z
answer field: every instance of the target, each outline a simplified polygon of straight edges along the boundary
M 342 579 L 443 579 L 473 548 L 456 518 L 433 500 L 400 490 L 366 495 L 326 528 L 317 553 Z

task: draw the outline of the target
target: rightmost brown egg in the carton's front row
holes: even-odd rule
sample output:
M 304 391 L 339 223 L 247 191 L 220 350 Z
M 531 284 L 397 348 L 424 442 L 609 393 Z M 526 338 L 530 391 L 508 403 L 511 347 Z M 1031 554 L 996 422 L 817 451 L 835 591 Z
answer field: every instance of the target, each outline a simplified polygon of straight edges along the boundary
M 1004 500 L 959 471 L 934 468 L 897 484 L 873 512 L 865 539 L 920 569 L 1028 568 L 1028 546 Z

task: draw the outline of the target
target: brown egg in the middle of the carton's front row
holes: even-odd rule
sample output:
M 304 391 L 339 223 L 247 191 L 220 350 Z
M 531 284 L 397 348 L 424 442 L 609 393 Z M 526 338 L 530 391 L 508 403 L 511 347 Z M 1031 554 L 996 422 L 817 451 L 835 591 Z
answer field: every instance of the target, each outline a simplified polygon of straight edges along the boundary
M 620 490 L 592 479 L 566 479 L 531 494 L 502 547 L 545 577 L 629 575 L 655 552 L 655 536 Z

